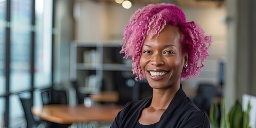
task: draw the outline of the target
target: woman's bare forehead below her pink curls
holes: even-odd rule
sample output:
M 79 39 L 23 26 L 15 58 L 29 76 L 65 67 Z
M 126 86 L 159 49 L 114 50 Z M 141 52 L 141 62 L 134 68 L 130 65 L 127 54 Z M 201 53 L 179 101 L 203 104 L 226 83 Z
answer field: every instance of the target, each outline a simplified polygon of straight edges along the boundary
M 147 36 L 144 44 L 157 42 L 157 44 L 173 44 L 180 45 L 182 41 L 182 34 L 178 27 L 166 25 L 160 31 L 159 35 L 154 35 L 152 37 Z

